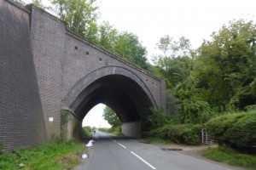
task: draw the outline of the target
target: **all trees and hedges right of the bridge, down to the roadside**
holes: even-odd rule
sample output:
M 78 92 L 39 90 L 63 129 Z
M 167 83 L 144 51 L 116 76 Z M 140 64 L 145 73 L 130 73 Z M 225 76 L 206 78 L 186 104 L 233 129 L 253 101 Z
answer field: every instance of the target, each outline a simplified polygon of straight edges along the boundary
M 166 79 L 172 98 L 166 111 L 148 117 L 154 137 L 199 144 L 206 124 L 220 144 L 255 150 L 255 110 L 247 111 L 256 103 L 255 37 L 250 20 L 230 21 L 196 50 L 184 37 L 161 37 L 154 72 Z

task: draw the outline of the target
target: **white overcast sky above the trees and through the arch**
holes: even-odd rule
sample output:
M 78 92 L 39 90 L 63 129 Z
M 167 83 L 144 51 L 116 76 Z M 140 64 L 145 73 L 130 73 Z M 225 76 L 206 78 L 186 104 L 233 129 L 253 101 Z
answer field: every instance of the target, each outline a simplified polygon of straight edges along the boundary
M 47 1 L 47 0 L 43 0 Z M 234 19 L 256 18 L 255 0 L 97 0 L 101 20 L 109 21 L 119 31 L 131 31 L 148 50 L 148 59 L 156 53 L 160 37 L 187 37 L 198 48 L 212 31 Z M 102 122 L 103 105 L 85 116 L 90 126 Z M 84 123 L 83 123 L 84 124 Z

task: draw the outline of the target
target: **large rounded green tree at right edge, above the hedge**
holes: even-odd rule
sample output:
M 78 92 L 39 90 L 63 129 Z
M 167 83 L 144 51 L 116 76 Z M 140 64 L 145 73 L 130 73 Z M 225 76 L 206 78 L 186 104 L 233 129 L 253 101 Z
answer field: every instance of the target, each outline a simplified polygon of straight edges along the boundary
M 213 107 L 244 109 L 256 103 L 256 26 L 234 20 L 199 48 L 193 76 L 201 99 Z

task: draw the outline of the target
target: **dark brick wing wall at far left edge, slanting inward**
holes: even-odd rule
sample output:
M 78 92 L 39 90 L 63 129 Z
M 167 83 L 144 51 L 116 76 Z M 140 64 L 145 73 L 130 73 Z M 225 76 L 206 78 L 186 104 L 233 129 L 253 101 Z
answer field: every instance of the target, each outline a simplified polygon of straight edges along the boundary
M 11 151 L 45 142 L 29 14 L 0 1 L 0 142 Z

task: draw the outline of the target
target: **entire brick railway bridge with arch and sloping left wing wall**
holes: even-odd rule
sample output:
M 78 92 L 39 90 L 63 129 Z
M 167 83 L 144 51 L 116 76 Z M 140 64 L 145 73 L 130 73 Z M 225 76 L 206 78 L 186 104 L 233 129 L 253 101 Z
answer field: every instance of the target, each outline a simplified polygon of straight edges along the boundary
M 0 142 L 6 150 L 78 137 L 84 116 L 108 105 L 122 132 L 140 137 L 148 108 L 166 105 L 166 83 L 66 30 L 41 8 L 0 0 Z

